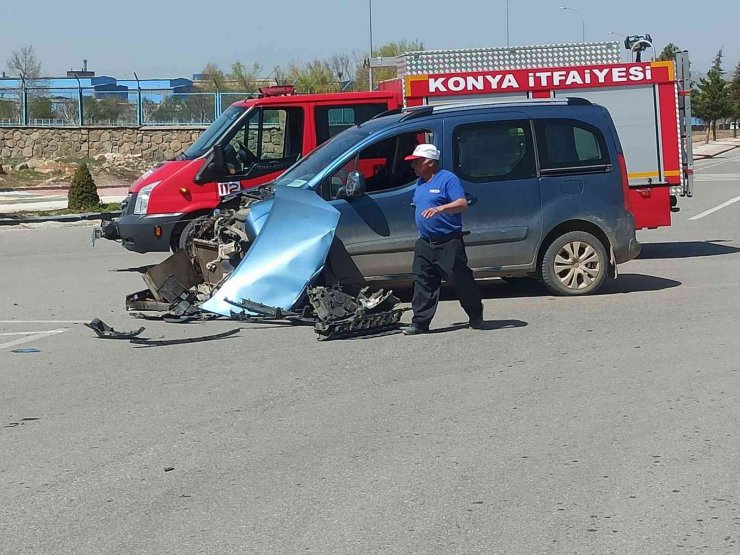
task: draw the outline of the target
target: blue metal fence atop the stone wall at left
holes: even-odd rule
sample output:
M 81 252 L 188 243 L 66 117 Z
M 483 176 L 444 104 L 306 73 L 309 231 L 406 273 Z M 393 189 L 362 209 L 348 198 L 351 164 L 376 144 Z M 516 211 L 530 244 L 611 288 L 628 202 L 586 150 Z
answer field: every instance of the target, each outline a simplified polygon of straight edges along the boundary
M 233 102 L 254 96 L 84 86 L 4 88 L 0 83 L 0 127 L 208 125 Z

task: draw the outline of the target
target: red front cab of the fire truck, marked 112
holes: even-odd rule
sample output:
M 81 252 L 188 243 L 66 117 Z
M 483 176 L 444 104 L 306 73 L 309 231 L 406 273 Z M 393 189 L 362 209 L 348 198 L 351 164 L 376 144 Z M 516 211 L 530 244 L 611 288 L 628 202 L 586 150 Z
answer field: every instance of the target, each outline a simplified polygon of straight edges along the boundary
M 137 179 L 121 217 L 104 222 L 100 236 L 120 239 L 135 252 L 177 250 L 187 225 L 223 197 L 275 179 L 340 131 L 401 104 L 395 92 L 262 92 L 229 106 L 174 160 Z

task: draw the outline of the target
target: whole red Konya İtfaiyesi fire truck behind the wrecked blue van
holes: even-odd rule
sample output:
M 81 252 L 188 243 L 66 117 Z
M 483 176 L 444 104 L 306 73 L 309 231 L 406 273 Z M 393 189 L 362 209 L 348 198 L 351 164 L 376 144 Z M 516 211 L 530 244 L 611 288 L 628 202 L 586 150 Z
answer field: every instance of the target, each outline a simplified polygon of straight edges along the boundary
M 188 223 L 222 197 L 274 179 L 342 129 L 403 105 L 583 97 L 612 115 L 638 228 L 670 225 L 678 197 L 693 194 L 685 52 L 675 63 L 622 63 L 619 44 L 605 42 L 411 52 L 395 63 L 398 77 L 378 91 L 279 89 L 234 103 L 175 160 L 134 182 L 123 215 L 98 235 L 137 252 L 174 250 Z

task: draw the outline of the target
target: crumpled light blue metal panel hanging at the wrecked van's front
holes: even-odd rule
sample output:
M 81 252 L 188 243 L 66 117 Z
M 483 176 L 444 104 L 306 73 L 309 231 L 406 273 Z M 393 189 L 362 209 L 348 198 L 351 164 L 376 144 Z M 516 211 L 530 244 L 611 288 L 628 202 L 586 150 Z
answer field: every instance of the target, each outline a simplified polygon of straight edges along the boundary
M 339 211 L 311 190 L 277 187 L 264 226 L 236 270 L 201 310 L 231 316 L 226 299 L 290 310 L 321 271 Z

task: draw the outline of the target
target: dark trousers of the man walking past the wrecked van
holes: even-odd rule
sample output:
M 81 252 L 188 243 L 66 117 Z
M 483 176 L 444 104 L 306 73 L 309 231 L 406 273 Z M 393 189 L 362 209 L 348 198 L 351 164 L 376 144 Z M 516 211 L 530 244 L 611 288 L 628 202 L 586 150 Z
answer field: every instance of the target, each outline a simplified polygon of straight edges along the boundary
M 424 239 L 416 241 L 414 247 L 414 296 L 411 321 L 420 328 L 428 329 L 439 302 L 442 280 L 452 285 L 460 305 L 468 318 L 479 318 L 483 314 L 480 291 L 468 268 L 465 243 L 462 237 L 434 244 Z

